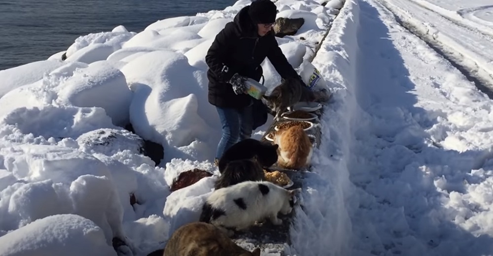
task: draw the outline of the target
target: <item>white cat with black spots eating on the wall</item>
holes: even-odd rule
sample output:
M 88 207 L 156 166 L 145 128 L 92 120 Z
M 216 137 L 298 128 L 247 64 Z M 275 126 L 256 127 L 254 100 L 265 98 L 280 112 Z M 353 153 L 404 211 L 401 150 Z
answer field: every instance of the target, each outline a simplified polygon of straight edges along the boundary
M 301 189 L 286 190 L 267 181 L 245 181 L 211 193 L 202 208 L 201 222 L 224 229 L 229 235 L 268 218 L 280 225 L 278 213 L 291 213 L 295 194 Z

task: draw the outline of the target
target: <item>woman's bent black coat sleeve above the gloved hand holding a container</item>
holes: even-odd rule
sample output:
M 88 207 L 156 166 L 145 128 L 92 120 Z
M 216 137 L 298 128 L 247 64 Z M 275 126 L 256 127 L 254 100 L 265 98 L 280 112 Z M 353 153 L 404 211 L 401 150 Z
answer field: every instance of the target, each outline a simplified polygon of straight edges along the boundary
M 212 73 L 223 82 L 229 81 L 237 72 L 225 64 L 226 57 L 231 54 L 232 46 L 238 39 L 234 26 L 232 22 L 226 24 L 224 29 L 215 36 L 206 55 L 206 64 Z

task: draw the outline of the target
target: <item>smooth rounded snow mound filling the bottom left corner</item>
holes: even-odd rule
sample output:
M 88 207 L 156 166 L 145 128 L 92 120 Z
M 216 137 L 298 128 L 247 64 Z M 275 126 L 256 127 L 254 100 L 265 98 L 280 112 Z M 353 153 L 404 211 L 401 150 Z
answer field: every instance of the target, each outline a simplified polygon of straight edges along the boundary
M 1 256 L 116 256 L 103 230 L 73 214 L 53 215 L 0 237 Z

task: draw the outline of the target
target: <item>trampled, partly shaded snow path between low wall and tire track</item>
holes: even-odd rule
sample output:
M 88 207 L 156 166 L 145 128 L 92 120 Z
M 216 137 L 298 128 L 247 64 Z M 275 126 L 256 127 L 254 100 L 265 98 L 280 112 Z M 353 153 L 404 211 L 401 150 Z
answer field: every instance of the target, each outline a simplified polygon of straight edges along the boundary
M 361 249 L 373 255 L 491 253 L 491 237 L 471 234 L 491 229 L 481 230 L 486 220 L 468 195 L 491 185 L 488 175 L 470 173 L 491 155 L 491 141 L 471 147 L 481 142 L 472 138 L 481 124 L 477 113 L 490 113 L 491 102 L 388 10 L 359 4 L 354 89 L 362 111 L 350 174 L 360 190 L 353 227 Z

